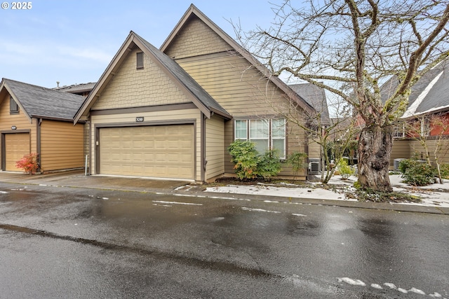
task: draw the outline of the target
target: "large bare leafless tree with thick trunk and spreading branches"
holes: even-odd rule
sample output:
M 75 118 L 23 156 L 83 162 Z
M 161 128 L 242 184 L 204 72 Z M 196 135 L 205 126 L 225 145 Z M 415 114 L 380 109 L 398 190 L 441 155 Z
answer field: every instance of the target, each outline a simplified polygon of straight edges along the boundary
M 391 192 L 392 124 L 410 88 L 449 56 L 448 0 L 307 0 L 274 5 L 269 29 L 240 34 L 274 76 L 326 88 L 354 106 L 365 126 L 358 141 L 358 182 Z M 382 100 L 381 85 L 398 84 Z M 322 82 L 322 83 L 321 83 Z

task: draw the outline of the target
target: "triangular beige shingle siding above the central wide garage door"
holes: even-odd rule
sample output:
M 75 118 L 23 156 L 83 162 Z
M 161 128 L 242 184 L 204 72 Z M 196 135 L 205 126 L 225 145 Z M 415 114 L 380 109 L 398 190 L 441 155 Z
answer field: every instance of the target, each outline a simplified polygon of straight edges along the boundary
M 147 55 L 144 54 L 144 68 L 136 69 L 138 51 L 128 54 L 93 110 L 192 102 Z

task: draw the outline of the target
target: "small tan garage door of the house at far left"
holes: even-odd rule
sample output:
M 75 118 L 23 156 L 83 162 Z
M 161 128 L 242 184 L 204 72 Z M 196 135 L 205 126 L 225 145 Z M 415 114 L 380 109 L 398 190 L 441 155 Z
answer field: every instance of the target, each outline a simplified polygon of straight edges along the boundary
M 29 154 L 29 133 L 5 134 L 5 170 L 22 171 L 15 167 L 15 162 Z

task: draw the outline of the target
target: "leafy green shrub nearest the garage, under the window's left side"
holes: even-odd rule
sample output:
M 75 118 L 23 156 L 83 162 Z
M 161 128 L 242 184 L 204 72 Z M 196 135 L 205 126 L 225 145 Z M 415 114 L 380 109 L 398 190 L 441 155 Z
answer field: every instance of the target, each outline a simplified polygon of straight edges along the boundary
M 239 179 L 254 179 L 257 176 L 257 150 L 251 141 L 237 139 L 227 148 Z

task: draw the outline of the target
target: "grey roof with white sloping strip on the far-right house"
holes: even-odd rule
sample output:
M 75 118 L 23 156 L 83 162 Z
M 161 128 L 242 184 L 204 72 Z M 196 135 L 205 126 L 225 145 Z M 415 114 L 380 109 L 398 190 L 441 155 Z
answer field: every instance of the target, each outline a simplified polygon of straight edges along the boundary
M 415 85 L 408 97 L 408 106 L 402 118 L 417 116 L 424 113 L 449 109 L 449 61 L 441 62 L 427 71 Z M 393 94 L 398 85 L 398 79 L 392 77 L 382 85 L 382 102 Z

